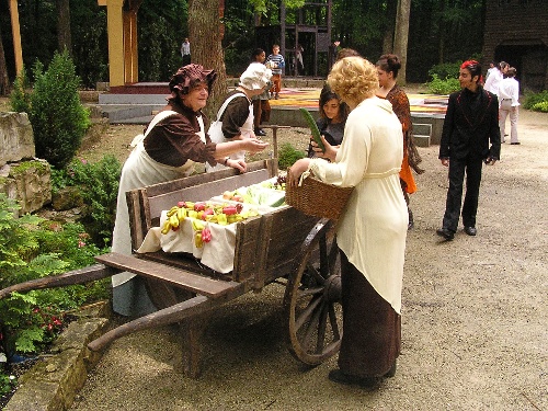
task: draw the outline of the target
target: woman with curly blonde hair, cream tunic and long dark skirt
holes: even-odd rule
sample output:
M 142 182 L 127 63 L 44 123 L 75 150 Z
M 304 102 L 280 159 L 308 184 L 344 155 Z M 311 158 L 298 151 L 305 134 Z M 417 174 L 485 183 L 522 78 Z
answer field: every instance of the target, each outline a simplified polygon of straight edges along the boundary
M 333 66 L 328 83 L 349 104 L 344 139 L 332 162 L 298 160 L 288 184 L 301 174 L 354 191 L 336 225 L 341 253 L 343 336 L 340 384 L 376 388 L 396 373 L 401 344 L 401 287 L 408 213 L 399 171 L 403 158 L 401 124 L 391 104 L 375 95 L 375 65 L 345 57 Z

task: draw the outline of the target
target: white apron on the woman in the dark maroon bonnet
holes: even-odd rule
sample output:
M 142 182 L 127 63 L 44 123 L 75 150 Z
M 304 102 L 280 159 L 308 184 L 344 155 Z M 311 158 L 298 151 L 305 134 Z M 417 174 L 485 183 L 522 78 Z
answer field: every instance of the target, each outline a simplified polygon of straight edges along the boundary
M 113 252 L 121 254 L 132 254 L 132 235 L 129 231 L 129 213 L 127 209 L 126 192 L 145 187 L 151 184 L 158 184 L 170 180 L 181 179 L 190 175 L 194 170 L 194 162 L 189 160 L 182 167 L 171 167 L 159 163 L 152 160 L 145 150 L 142 140 L 147 134 L 162 119 L 176 114 L 173 111 L 163 111 L 156 115 L 150 123 L 145 135 L 138 135 L 133 144 L 135 148 L 130 152 L 128 159 L 122 168 L 122 175 L 119 179 L 118 198 L 116 205 L 116 220 L 114 222 L 114 232 L 112 236 Z M 204 123 L 202 117 L 198 117 L 201 132 L 199 138 L 205 142 Z M 112 285 L 116 287 L 133 278 L 135 274 L 121 273 L 113 275 Z

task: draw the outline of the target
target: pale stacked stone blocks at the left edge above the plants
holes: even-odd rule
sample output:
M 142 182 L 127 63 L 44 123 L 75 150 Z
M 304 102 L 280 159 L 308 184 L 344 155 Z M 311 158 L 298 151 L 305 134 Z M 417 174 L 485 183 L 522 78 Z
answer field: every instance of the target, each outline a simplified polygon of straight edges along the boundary
M 0 113 L 0 193 L 18 201 L 20 214 L 52 203 L 50 167 L 35 158 L 26 113 Z

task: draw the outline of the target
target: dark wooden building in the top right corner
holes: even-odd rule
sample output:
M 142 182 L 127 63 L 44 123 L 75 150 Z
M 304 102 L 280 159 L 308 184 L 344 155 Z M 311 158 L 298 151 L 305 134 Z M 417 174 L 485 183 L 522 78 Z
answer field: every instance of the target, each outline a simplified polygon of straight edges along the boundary
M 548 89 L 548 0 L 487 0 L 483 66 L 517 69 L 522 92 Z

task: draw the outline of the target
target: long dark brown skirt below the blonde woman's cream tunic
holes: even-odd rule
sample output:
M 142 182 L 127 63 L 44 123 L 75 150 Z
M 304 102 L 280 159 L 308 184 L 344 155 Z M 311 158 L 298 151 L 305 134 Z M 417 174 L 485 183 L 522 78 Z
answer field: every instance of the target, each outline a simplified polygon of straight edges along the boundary
M 341 251 L 343 338 L 339 367 L 346 375 L 381 377 L 400 354 L 401 316 Z

